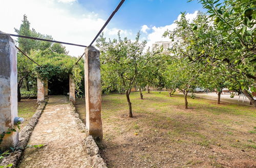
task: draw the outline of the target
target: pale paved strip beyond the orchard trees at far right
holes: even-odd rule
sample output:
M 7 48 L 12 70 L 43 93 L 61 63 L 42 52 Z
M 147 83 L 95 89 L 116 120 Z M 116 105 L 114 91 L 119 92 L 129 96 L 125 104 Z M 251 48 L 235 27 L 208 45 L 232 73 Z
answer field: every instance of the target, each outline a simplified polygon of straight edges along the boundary
M 196 94 L 196 97 L 200 97 L 200 98 L 205 98 L 205 99 L 210 99 L 210 100 L 218 100 L 218 95 L 216 93 L 195 93 Z M 249 106 L 252 106 L 250 105 L 250 101 L 248 98 L 244 98 L 244 102 L 243 102 L 243 96 L 240 96 L 240 99 L 238 101 L 238 95 L 235 95 L 234 98 L 230 98 L 230 94 L 229 93 L 226 93 L 226 94 L 222 94 L 221 95 L 221 101 L 224 101 L 224 102 L 229 102 L 229 103 L 236 103 L 236 104 L 241 104 L 241 105 L 249 105 Z

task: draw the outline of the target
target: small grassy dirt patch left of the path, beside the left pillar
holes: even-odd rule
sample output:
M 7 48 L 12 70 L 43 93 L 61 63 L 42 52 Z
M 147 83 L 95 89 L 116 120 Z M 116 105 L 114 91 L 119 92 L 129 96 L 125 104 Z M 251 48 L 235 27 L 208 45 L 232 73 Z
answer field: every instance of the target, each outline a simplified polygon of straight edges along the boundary
M 24 123 L 20 124 L 20 129 L 28 124 L 37 107 L 36 99 L 22 99 L 21 102 L 18 102 L 18 117 L 25 119 Z

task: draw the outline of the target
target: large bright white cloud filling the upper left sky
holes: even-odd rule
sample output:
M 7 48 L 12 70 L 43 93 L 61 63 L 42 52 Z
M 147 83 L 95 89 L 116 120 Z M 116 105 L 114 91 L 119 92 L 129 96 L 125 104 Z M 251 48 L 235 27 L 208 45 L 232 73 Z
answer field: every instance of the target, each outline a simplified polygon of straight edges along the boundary
M 105 23 L 97 13 L 81 8 L 74 0 L 0 0 L 0 4 L 0 15 L 3 16 L 0 31 L 5 33 L 16 34 L 13 28 L 19 28 L 26 14 L 31 28 L 41 34 L 52 35 L 57 41 L 89 45 Z M 105 35 L 112 36 L 118 30 L 106 27 Z M 131 31 L 122 30 L 122 33 L 129 35 Z M 83 47 L 65 46 L 69 54 L 76 57 L 84 51 Z

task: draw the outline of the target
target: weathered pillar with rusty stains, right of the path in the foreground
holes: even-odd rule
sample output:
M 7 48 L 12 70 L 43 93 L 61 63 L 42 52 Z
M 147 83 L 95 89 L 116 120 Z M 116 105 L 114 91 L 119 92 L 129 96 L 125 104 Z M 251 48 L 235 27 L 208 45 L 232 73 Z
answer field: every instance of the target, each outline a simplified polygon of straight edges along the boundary
M 86 127 L 96 141 L 102 140 L 101 80 L 99 50 L 89 46 L 84 51 L 84 88 L 86 91 Z

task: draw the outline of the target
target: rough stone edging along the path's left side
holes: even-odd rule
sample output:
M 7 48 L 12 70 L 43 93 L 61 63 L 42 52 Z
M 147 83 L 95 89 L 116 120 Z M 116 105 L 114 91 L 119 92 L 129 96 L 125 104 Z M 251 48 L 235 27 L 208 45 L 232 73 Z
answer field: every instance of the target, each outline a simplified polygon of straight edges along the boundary
M 19 142 L 15 148 L 16 150 L 2 160 L 0 164 L 1 166 L 12 164 L 12 167 L 16 167 L 18 165 L 20 157 L 22 156 L 29 141 L 30 135 L 34 130 L 42 111 L 45 109 L 46 104 L 47 102 L 38 103 L 35 114 L 29 120 L 29 123 L 19 132 Z

